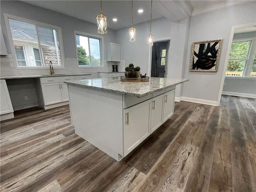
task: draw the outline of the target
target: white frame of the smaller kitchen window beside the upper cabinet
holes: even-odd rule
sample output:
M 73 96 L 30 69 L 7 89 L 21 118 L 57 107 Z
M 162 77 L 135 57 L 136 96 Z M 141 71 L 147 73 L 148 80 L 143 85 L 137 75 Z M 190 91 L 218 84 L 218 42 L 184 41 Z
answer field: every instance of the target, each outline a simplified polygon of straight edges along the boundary
M 91 66 L 91 65 L 90 66 L 79 66 L 77 47 L 76 47 L 76 35 L 100 40 L 100 63 L 102 64 L 101 66 Z M 105 66 L 104 65 L 104 38 L 102 36 L 74 30 L 74 41 L 75 41 L 75 51 L 76 51 L 76 62 L 77 62 L 78 68 L 104 68 L 104 66 Z M 90 40 L 88 40 L 88 42 L 89 41 Z M 89 50 L 90 50 L 90 43 L 89 43 Z M 91 57 L 90 51 L 89 51 L 89 57 Z

